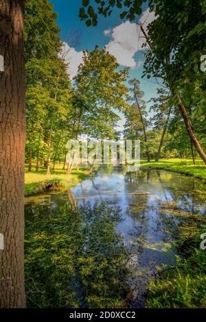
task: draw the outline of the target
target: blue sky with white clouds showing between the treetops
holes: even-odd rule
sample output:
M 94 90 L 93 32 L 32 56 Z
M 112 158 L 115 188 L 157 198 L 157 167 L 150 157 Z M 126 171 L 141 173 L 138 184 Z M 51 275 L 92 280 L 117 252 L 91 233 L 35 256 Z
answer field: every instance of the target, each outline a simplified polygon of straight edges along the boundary
M 80 34 L 79 44 L 76 45 L 72 51 L 71 64 L 73 66 L 78 64 L 81 58 L 82 50 L 93 50 L 95 45 L 99 45 L 100 49 L 106 46 L 108 51 L 116 56 L 117 61 L 121 64 L 127 64 L 130 66 L 130 77 L 137 77 L 141 82 L 141 90 L 144 91 L 144 99 L 149 101 L 151 97 L 157 96 L 157 82 L 155 79 L 141 79 L 143 72 L 142 62 L 144 61 L 144 52 L 138 50 L 141 47 L 137 42 L 143 40 L 137 40 L 135 35 L 135 23 L 129 23 L 122 20 L 119 17 L 120 10 L 114 10 L 110 17 L 99 17 L 98 25 L 96 27 L 86 27 L 84 21 L 80 21 L 78 17 L 79 8 L 82 5 L 82 0 L 50 0 L 54 4 L 54 10 L 58 13 L 57 23 L 60 27 L 60 36 L 63 41 L 68 40 L 68 33 L 78 30 Z M 95 1 L 92 1 L 95 3 Z M 143 7 L 143 11 L 146 12 L 147 5 Z M 148 14 L 147 21 L 150 21 Z M 139 17 L 141 18 L 141 17 Z M 137 18 L 136 23 L 139 18 Z M 144 16 L 142 17 L 142 19 Z M 104 34 L 104 31 L 106 35 Z M 67 41 L 68 42 L 68 41 Z M 119 47 L 119 42 L 121 47 Z M 71 44 L 68 44 L 71 45 Z M 135 49 L 133 50 L 133 47 Z M 135 66 L 134 66 L 135 65 Z M 73 67 L 74 68 L 74 67 Z M 147 104 L 148 108 L 150 104 Z M 123 123 L 124 120 L 121 122 Z M 120 124 L 119 124 L 120 125 Z

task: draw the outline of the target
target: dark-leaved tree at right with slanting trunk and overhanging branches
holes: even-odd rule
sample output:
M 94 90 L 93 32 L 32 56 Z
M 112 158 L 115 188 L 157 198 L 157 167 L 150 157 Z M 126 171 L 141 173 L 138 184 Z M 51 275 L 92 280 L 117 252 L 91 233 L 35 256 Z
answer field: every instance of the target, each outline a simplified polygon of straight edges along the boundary
M 95 0 L 95 2 L 100 3 L 98 13 L 90 1 L 82 1 L 83 7 L 80 8 L 79 16 L 87 26 L 97 25 L 98 14 L 110 16 L 113 8 L 124 8 L 125 11 L 120 17 L 133 21 L 137 14 L 141 14 L 140 7 L 144 1 Z M 198 63 L 205 51 L 205 0 L 150 0 L 149 7 L 157 18 L 150 23 L 147 31 L 141 26 L 141 31 L 150 47 L 150 51 L 146 52 L 144 75 L 148 74 L 150 77 L 149 74 L 152 73 L 155 77 L 161 77 L 168 86 L 176 99 L 176 106 L 179 108 L 187 134 L 206 164 L 205 152 L 181 97 L 184 86 L 193 84 L 194 90 L 196 84 L 194 79 L 204 77 L 198 75 L 200 74 Z

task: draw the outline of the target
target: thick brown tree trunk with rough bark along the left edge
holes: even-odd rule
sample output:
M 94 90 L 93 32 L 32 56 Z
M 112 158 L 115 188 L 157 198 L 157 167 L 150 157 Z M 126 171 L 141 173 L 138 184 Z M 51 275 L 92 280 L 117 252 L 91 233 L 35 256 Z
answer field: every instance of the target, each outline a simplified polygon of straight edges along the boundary
M 25 307 L 23 7 L 23 0 L 0 0 L 0 308 Z

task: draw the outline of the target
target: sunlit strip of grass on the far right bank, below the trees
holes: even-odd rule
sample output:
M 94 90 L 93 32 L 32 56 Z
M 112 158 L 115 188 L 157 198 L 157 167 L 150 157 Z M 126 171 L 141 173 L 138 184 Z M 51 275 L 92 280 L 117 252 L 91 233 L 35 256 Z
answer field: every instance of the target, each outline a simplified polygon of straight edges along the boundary
M 193 164 L 192 160 L 188 159 L 161 159 L 159 162 L 141 160 L 141 168 L 165 169 L 176 173 L 192 175 L 206 181 L 206 166 L 202 160 L 196 160 L 196 164 Z

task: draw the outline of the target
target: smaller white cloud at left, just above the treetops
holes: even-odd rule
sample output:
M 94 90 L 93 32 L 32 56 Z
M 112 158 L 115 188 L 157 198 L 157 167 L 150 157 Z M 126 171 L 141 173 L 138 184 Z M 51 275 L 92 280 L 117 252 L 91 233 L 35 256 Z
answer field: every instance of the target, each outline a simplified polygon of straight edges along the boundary
M 62 55 L 68 64 L 69 77 L 72 79 L 78 73 L 78 66 L 83 62 L 83 51 L 76 51 L 75 48 L 69 47 L 67 42 L 63 42 Z

